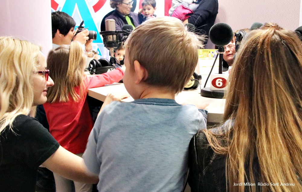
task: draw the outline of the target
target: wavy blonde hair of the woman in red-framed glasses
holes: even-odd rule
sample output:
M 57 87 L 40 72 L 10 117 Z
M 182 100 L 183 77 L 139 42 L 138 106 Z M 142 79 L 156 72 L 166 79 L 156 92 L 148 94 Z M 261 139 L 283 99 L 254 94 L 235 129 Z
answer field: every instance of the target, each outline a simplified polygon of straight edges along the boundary
M 26 40 L 0 37 L 0 135 L 14 119 L 28 115 L 34 99 L 32 74 L 40 47 Z M 13 130 L 12 130 L 13 131 Z

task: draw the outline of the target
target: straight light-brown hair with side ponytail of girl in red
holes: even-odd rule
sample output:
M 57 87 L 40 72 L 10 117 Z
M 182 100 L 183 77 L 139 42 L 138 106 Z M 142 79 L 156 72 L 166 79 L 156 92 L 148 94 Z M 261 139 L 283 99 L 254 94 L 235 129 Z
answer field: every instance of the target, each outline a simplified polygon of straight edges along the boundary
M 54 85 L 48 88 L 47 102 L 78 101 L 83 96 L 84 65 L 85 52 L 76 41 L 51 50 L 47 56 L 47 66 Z M 80 86 L 80 93 L 75 90 L 77 86 Z

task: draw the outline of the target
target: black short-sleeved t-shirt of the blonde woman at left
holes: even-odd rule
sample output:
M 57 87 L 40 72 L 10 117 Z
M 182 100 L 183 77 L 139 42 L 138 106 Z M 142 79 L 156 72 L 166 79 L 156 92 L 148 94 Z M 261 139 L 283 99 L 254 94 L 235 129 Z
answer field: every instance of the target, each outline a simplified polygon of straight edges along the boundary
M 35 191 L 37 169 L 59 148 L 59 143 L 36 119 L 19 115 L 14 133 L 0 135 L 0 191 Z

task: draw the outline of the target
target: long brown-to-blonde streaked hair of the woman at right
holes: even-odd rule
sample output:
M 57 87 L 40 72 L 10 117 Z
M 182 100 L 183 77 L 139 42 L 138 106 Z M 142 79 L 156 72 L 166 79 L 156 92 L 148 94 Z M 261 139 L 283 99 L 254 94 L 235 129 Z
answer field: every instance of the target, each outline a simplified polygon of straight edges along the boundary
M 224 120 L 233 125 L 220 136 L 204 131 L 212 149 L 226 155 L 229 191 L 256 191 L 257 183 L 233 184 L 256 181 L 269 184 L 262 191 L 302 191 L 301 74 L 302 45 L 294 32 L 267 23 L 243 40 L 226 94 Z

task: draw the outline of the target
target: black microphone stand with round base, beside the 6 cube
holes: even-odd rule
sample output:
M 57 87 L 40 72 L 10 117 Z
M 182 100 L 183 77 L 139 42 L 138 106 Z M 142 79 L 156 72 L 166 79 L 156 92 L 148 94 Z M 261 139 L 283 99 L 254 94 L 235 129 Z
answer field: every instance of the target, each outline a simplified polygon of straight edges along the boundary
M 219 46 L 218 47 L 218 55 L 219 55 L 219 67 L 218 67 L 218 74 L 222 74 L 222 62 L 223 62 L 223 52 L 224 52 L 224 47 L 223 46 Z M 209 97 L 209 98 L 223 98 L 224 97 L 224 93 L 225 91 L 219 91 L 219 90 L 210 90 L 209 87 L 206 88 L 206 85 L 207 85 L 207 81 L 212 73 L 212 70 L 215 66 L 215 62 L 217 60 L 217 57 L 218 55 L 216 56 L 216 59 L 213 63 L 213 66 L 212 66 L 212 69 L 207 77 L 207 80 L 204 84 L 204 88 L 201 89 L 200 91 L 200 95 L 203 96 L 203 97 Z

